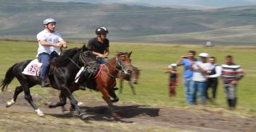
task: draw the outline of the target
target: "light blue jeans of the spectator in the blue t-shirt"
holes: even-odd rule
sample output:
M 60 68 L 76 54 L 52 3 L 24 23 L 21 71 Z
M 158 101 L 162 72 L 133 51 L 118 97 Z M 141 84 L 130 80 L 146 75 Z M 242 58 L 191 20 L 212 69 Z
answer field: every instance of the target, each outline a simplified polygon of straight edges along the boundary
M 190 89 L 191 89 L 192 78 L 183 78 L 183 88 L 185 92 L 186 102 L 191 104 L 191 96 L 190 96 Z

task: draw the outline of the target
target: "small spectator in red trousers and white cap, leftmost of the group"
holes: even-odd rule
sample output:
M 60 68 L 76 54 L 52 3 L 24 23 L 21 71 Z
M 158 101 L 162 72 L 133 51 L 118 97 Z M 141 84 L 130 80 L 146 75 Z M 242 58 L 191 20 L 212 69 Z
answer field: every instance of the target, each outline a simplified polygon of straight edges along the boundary
M 171 64 L 167 67 L 165 73 L 170 73 L 169 78 L 169 96 L 176 96 L 176 86 L 178 86 L 178 71 L 176 70 L 177 64 Z

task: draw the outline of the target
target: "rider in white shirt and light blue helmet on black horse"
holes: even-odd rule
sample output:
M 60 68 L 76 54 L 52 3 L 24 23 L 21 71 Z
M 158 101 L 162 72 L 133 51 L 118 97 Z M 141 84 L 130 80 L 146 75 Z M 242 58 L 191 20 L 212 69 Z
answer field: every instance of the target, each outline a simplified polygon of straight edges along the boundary
M 55 31 L 56 21 L 53 18 L 46 18 L 42 22 L 45 30 L 37 34 L 38 39 L 38 61 L 42 62 L 42 70 L 40 74 L 42 87 L 49 86 L 46 82 L 46 74 L 50 68 L 50 58 L 59 56 L 58 47 L 66 48 L 67 43 L 62 39 L 61 35 Z

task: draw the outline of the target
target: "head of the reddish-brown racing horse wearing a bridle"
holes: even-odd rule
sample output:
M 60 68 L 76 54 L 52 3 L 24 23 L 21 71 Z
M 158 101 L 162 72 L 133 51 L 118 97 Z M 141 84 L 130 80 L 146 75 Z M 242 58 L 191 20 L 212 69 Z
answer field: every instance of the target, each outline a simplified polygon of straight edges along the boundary
M 117 52 L 116 64 L 117 68 L 121 69 L 124 74 L 131 74 L 133 72 L 133 66 L 130 64 L 130 53 Z

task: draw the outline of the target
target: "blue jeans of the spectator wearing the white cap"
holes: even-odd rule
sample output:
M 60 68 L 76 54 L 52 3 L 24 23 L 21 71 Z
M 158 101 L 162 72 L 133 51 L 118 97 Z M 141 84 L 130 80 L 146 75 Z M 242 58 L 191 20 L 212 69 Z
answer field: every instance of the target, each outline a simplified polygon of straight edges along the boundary
M 206 104 L 206 86 L 207 82 L 192 81 L 191 84 L 191 105 L 197 104 L 197 92 L 201 98 L 202 105 Z

